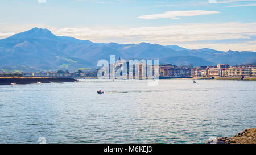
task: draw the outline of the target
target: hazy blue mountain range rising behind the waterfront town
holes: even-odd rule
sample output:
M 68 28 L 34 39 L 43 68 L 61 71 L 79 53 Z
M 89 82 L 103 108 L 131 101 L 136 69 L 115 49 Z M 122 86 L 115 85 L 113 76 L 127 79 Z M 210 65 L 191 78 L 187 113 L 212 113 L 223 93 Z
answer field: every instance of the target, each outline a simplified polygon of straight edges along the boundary
M 93 43 L 74 37 L 56 36 L 42 28 L 0 39 L 0 72 L 70 71 L 96 68 L 98 60 L 159 58 L 160 64 L 207 66 L 245 64 L 256 61 L 256 52 L 186 49 L 177 45 L 150 43 Z

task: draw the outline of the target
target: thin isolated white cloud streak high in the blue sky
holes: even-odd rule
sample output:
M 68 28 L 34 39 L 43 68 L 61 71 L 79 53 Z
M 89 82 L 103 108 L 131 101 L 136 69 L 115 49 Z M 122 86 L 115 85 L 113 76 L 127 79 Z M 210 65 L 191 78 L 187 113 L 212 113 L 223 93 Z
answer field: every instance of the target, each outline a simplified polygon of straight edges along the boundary
M 189 11 L 166 11 L 163 14 L 142 15 L 139 19 L 176 18 L 179 16 L 196 16 L 219 14 L 219 11 L 189 10 Z

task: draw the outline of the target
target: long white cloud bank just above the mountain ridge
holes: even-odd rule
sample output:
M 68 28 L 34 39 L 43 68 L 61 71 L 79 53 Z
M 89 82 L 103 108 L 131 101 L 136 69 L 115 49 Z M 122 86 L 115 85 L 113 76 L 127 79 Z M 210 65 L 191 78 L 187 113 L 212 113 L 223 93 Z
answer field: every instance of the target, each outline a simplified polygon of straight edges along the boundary
M 176 24 L 138 28 L 63 28 L 56 35 L 72 36 L 94 42 L 157 43 L 185 48 L 214 48 L 228 51 L 256 51 L 255 23 Z M 226 41 L 225 41 L 226 40 Z

